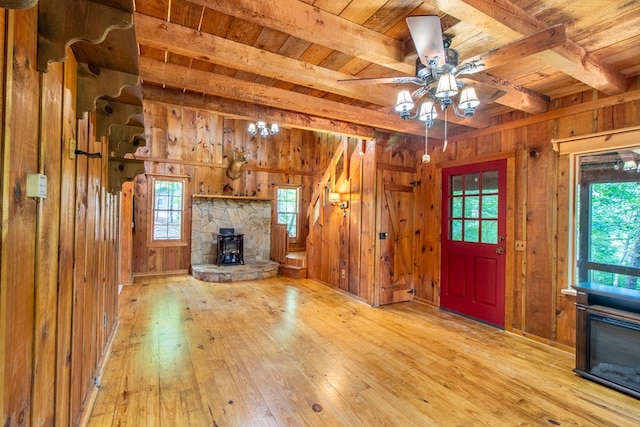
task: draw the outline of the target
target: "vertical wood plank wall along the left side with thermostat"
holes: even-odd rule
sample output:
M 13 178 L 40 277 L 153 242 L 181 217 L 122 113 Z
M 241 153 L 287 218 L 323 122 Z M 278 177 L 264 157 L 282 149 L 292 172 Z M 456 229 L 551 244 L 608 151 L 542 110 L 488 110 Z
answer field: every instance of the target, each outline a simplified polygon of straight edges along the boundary
M 118 195 L 106 190 L 106 142 L 76 120 L 77 64 L 68 52 L 36 71 L 37 8 L 2 22 L 2 425 L 75 425 L 117 322 Z M 69 157 L 78 149 L 103 159 Z M 27 173 L 48 178 L 26 197 Z

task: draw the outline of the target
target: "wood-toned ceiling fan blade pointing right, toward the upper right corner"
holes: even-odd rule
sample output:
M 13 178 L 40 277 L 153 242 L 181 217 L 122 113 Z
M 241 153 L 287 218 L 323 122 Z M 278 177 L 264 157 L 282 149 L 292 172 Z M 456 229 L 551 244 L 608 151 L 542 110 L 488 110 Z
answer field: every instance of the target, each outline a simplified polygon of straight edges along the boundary
M 567 40 L 564 24 L 554 25 L 545 30 L 522 37 L 499 48 L 467 58 L 460 69 L 465 65 L 475 63 L 464 74 L 472 74 L 489 68 L 499 67 L 512 61 L 535 55 L 545 50 L 560 46 Z

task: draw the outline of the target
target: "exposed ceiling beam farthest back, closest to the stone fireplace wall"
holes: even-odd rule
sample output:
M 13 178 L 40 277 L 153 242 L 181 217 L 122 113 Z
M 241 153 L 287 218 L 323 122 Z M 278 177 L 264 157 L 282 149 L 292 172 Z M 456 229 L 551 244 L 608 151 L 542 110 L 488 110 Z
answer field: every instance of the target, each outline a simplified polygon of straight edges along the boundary
M 319 132 L 338 133 L 361 139 L 373 139 L 375 129 L 355 123 L 330 120 L 308 114 L 293 113 L 263 105 L 249 104 L 235 99 L 220 98 L 158 86 L 142 87 L 145 102 L 156 102 L 166 105 L 179 105 L 194 109 L 202 109 L 228 117 L 248 120 L 260 118 L 267 122 L 275 122 L 284 128 L 300 128 Z

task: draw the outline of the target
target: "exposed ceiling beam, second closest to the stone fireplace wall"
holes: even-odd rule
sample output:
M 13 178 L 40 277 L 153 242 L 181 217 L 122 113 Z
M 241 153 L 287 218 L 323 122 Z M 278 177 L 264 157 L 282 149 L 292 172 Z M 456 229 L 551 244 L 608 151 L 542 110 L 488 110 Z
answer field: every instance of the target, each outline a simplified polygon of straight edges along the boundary
M 185 88 L 193 92 L 238 99 L 254 104 L 276 106 L 289 111 L 353 122 L 400 133 L 424 134 L 424 125 L 421 122 L 402 120 L 397 115 L 358 108 L 323 98 L 237 80 L 228 76 L 168 64 L 149 58 L 140 58 L 140 74 L 145 81 L 161 83 L 170 87 Z

